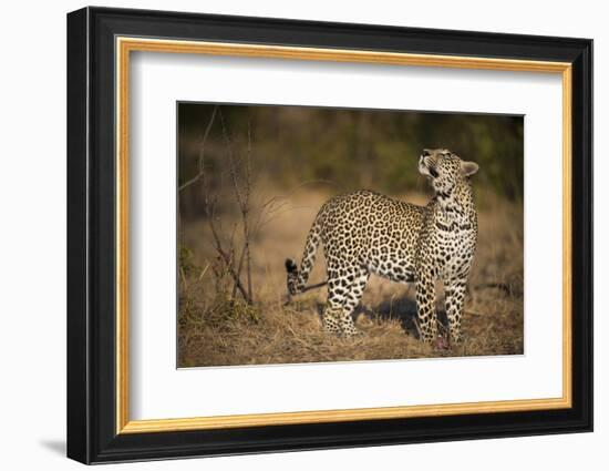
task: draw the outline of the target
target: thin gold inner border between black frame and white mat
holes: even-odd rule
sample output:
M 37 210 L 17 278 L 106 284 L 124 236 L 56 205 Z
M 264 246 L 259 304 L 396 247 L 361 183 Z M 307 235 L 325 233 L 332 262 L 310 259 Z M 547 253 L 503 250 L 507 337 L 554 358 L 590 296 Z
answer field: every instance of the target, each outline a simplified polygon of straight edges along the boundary
M 440 66 L 518 72 L 558 73 L 562 80 L 562 396 L 548 399 L 518 399 L 484 402 L 379 407 L 318 411 L 254 413 L 131 420 L 128 359 L 128 110 L 130 57 L 133 51 L 289 59 L 309 61 L 359 62 L 393 65 Z M 567 409 L 572 406 L 571 391 L 571 64 L 435 54 L 411 54 L 365 50 L 319 49 L 223 42 L 179 41 L 117 37 L 116 71 L 116 433 L 151 433 L 239 427 L 285 426 L 299 423 L 345 422 Z

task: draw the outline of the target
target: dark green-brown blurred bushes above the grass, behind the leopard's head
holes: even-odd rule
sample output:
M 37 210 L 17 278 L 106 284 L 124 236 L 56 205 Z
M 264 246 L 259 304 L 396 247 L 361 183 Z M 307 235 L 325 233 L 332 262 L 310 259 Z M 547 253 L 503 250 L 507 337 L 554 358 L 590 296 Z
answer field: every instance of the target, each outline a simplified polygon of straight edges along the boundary
M 214 107 L 178 106 L 180 183 L 197 173 L 199 145 Z M 306 106 L 220 109 L 234 146 L 245 149 L 249 130 L 257 176 L 280 190 L 326 183 L 342 192 L 425 192 L 419 155 L 423 149 L 445 147 L 479 164 L 475 190 L 509 201 L 523 198 L 523 116 Z M 210 173 L 225 158 L 221 123 L 216 119 L 206 142 Z M 199 213 L 199 196 L 197 187 L 180 195 L 184 217 Z

